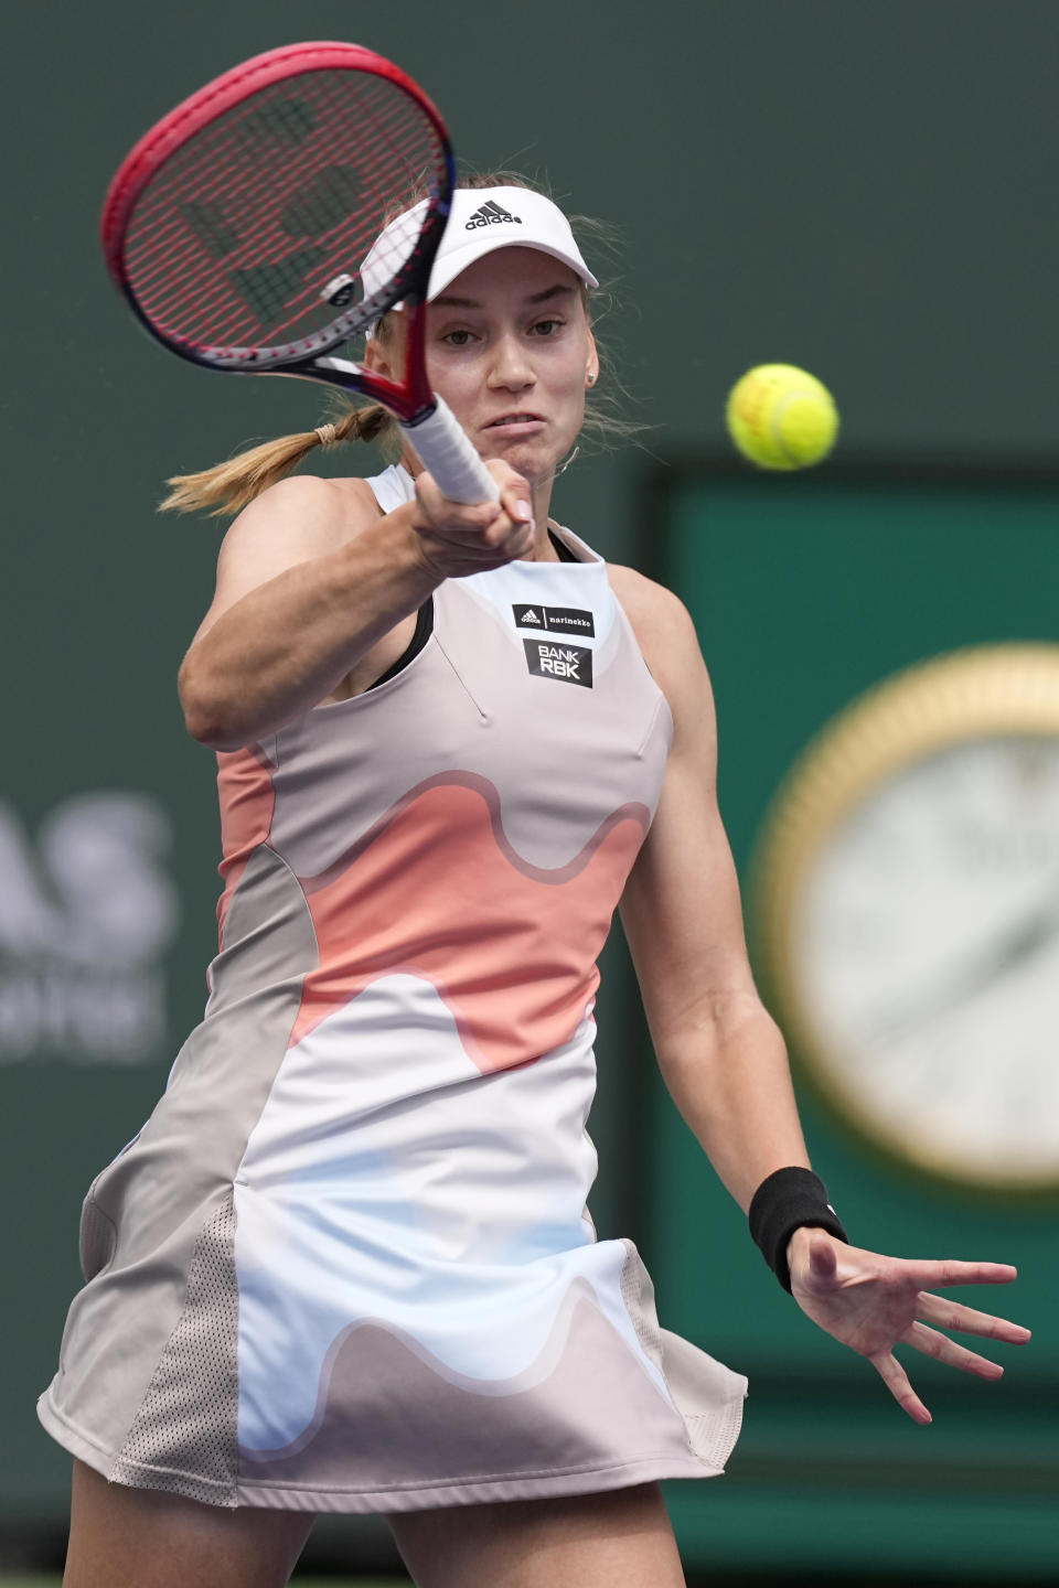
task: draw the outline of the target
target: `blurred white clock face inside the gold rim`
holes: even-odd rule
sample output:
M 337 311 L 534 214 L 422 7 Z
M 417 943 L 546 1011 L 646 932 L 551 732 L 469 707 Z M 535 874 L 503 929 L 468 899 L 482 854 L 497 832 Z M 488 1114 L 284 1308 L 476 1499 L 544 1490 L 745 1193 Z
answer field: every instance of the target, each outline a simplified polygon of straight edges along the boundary
M 956 1180 L 1059 1185 L 1059 737 L 880 781 L 819 843 L 789 943 L 818 1080 L 862 1129 Z

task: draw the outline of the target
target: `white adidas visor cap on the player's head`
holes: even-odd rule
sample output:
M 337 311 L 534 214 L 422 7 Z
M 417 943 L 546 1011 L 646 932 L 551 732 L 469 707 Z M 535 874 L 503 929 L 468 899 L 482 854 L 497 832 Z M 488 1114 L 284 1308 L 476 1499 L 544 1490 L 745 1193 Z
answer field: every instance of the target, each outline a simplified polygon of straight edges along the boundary
M 426 208 L 424 198 L 422 203 L 399 214 L 378 235 L 360 267 L 365 297 L 384 287 L 394 278 L 397 264 L 408 257 Z M 568 265 L 586 286 L 599 286 L 581 259 L 570 222 L 551 198 L 529 187 L 457 187 L 441 233 L 441 246 L 430 270 L 427 302 L 445 292 L 468 265 L 491 254 L 494 248 L 535 248 Z

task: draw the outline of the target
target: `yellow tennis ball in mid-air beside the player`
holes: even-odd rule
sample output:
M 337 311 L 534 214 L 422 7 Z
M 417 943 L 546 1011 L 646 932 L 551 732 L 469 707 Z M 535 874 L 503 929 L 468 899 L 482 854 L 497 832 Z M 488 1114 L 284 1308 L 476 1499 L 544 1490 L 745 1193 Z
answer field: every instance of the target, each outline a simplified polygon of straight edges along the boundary
M 827 457 L 838 410 L 827 387 L 792 364 L 759 364 L 735 383 L 726 419 L 743 457 L 759 468 L 808 468 Z

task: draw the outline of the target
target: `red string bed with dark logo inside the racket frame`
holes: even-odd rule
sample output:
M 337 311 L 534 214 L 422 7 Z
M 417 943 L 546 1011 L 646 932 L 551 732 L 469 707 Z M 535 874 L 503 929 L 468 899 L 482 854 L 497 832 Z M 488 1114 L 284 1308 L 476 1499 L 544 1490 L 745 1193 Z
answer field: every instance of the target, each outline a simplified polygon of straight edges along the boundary
M 325 70 L 273 84 L 148 181 L 127 229 L 132 292 L 167 338 L 202 348 L 311 337 L 337 318 L 322 295 L 333 278 L 356 311 L 394 195 L 424 173 L 443 186 L 445 160 L 433 122 L 389 81 Z M 387 275 L 418 241 L 418 224 L 392 235 Z

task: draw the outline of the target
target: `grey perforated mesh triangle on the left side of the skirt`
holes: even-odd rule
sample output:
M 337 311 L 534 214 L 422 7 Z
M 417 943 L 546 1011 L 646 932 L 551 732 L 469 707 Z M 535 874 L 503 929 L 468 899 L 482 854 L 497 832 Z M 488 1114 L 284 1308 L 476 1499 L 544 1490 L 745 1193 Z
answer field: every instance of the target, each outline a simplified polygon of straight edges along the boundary
M 235 1505 L 238 1289 L 232 1196 L 203 1224 L 184 1309 L 110 1480 Z

